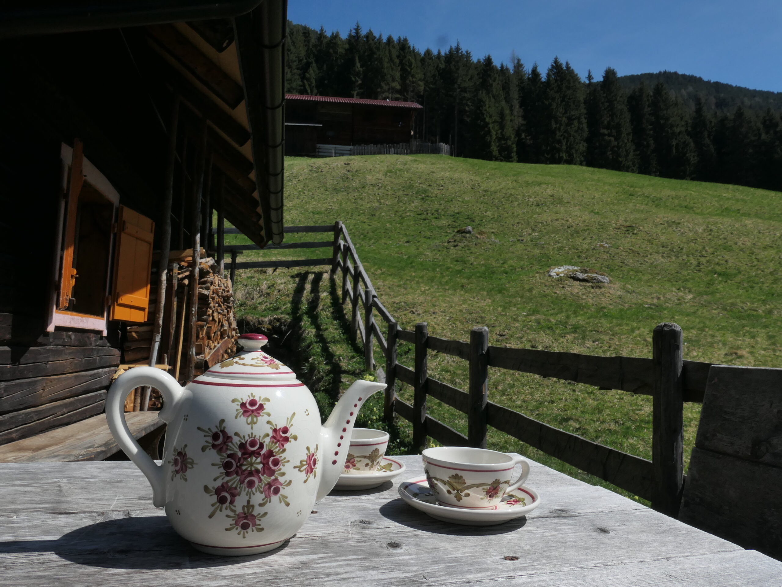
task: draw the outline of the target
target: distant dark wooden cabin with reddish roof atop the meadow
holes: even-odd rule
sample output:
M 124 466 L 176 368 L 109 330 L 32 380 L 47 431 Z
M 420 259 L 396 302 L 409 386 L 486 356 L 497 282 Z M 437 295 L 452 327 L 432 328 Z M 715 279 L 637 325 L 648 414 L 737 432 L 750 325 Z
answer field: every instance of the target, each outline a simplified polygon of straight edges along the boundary
M 285 154 L 314 155 L 318 145 L 411 142 L 414 102 L 328 95 L 285 96 Z

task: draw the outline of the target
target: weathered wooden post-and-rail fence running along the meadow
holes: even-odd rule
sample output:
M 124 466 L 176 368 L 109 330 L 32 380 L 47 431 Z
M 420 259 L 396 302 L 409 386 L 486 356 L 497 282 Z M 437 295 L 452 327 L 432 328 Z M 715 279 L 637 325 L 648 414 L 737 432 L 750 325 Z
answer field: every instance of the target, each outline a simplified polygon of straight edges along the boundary
M 228 230 L 226 230 L 228 233 Z M 250 261 L 231 266 L 304 267 L 331 265 L 332 277 L 341 272 L 343 304 L 350 301 L 350 331 L 364 348 L 364 364 L 375 372 L 374 344 L 385 358 L 386 401 L 384 416 L 398 414 L 413 424 L 413 441 L 418 450 L 427 436 L 443 445 L 486 447 L 487 427 L 509 434 L 526 444 L 595 477 L 648 499 L 656 510 L 676 516 L 679 511 L 683 475 L 683 402 L 702 402 L 708 369 L 712 363 L 684 361 L 683 337 L 679 326 L 663 323 L 652 333 L 652 358 L 601 357 L 578 353 L 504 348 L 489 344 L 489 330 L 474 328 L 469 341 L 429 336 L 420 322 L 415 330 L 402 330 L 375 293 L 361 265 L 356 248 L 341 221 L 327 226 L 292 226 L 285 232 L 332 232 L 332 241 L 290 243 L 275 248 L 332 247 L 331 258 L 302 261 Z M 226 247 L 235 250 L 254 245 Z M 272 247 L 267 247 L 271 249 Z M 378 316 L 385 323 L 385 336 Z M 396 360 L 399 341 L 414 344 L 414 366 Z M 468 391 L 462 391 L 429 376 L 429 351 L 461 358 L 469 364 Z M 588 441 L 558 430 L 520 412 L 488 401 L 488 369 L 498 367 L 543 377 L 574 381 L 605 390 L 651 395 L 652 460 Z M 396 381 L 411 385 L 413 404 L 396 397 Z M 427 414 L 431 396 L 468 417 L 468 434 L 460 434 Z

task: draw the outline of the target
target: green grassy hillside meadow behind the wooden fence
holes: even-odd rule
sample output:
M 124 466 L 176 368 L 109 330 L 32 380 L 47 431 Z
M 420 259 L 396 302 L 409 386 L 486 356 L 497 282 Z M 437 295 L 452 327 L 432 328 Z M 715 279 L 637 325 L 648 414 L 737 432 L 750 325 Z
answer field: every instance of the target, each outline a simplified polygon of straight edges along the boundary
M 285 163 L 285 224 L 344 221 L 378 296 L 404 328 L 424 321 L 434 336 L 468 340 L 473 326 L 488 326 L 490 344 L 500 346 L 650 357 L 652 329 L 676 322 L 685 358 L 782 366 L 782 193 L 439 156 Z M 467 225 L 474 234 L 457 234 Z M 241 260 L 329 254 L 262 251 Z M 593 268 L 611 283 L 552 279 L 546 272 L 554 265 Z M 239 275 L 240 315 L 306 322 L 307 369 L 332 396 L 361 376 L 360 349 L 346 340 L 328 275 Z M 313 280 L 315 295 L 307 289 Z M 412 366 L 407 346 L 400 362 Z M 467 365 L 457 358 L 432 354 L 429 373 L 466 388 Z M 411 390 L 401 395 L 411 401 Z M 651 398 L 492 369 L 490 400 L 651 458 Z M 686 458 L 699 408 L 685 408 Z M 432 400 L 430 412 L 466 432 L 466 417 L 453 409 Z M 595 481 L 496 431 L 490 445 Z

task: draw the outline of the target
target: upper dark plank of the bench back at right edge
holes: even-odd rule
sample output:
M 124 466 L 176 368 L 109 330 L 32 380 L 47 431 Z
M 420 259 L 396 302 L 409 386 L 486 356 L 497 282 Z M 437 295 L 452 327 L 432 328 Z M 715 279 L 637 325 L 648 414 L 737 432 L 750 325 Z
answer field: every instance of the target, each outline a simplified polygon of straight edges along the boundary
M 782 369 L 712 366 L 695 445 L 782 466 Z

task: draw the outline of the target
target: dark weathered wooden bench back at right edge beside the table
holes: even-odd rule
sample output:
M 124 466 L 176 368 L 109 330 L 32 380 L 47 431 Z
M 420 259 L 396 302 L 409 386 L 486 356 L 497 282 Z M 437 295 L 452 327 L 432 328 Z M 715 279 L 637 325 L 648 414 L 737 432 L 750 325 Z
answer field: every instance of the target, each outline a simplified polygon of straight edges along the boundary
M 679 517 L 782 559 L 782 369 L 709 369 Z

